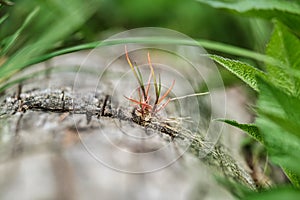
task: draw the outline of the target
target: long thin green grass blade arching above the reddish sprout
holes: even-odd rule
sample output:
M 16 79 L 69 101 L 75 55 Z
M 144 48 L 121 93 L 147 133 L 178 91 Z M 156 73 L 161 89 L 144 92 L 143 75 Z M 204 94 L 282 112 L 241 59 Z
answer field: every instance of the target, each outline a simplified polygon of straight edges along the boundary
M 253 52 L 247 49 L 227 45 L 227 44 L 222 44 L 218 42 L 213 42 L 213 41 L 208 41 L 208 40 L 198 40 L 197 43 L 190 41 L 190 40 L 182 40 L 182 39 L 170 39 L 170 38 L 165 38 L 165 37 L 154 37 L 154 38 L 146 38 L 146 37 L 139 37 L 139 38 L 122 38 L 122 39 L 114 39 L 114 40 L 104 40 L 104 41 L 97 41 L 97 42 L 91 42 L 91 43 L 86 43 L 74 47 L 69 47 L 65 49 L 61 49 L 52 53 L 44 54 L 41 56 L 36 56 L 33 57 L 29 60 L 26 60 L 22 63 L 17 63 L 14 65 L 14 73 L 17 73 L 18 71 L 46 61 L 50 58 L 60 56 L 63 54 L 67 53 L 72 53 L 80 50 L 86 50 L 86 49 L 93 49 L 97 47 L 104 47 L 104 46 L 113 46 L 113 45 L 120 45 L 120 44 L 140 44 L 140 43 L 149 43 L 149 44 L 176 44 L 176 45 L 187 45 L 187 46 L 199 46 L 202 45 L 203 47 L 207 49 L 212 49 L 212 50 L 217 50 L 217 51 L 222 51 L 225 53 L 229 53 L 232 55 L 238 55 L 238 56 L 243 56 L 246 58 L 251 58 L 257 61 L 262 61 L 265 63 L 281 66 L 281 62 L 274 59 L 273 57 L 266 56 L 257 52 Z M 14 73 L 11 73 L 11 69 L 6 69 L 8 68 L 8 65 L 3 65 L 0 68 L 0 83 L 3 83 L 5 80 L 7 80 L 9 77 L 14 75 Z M 293 75 L 299 75 L 300 73 L 293 73 Z

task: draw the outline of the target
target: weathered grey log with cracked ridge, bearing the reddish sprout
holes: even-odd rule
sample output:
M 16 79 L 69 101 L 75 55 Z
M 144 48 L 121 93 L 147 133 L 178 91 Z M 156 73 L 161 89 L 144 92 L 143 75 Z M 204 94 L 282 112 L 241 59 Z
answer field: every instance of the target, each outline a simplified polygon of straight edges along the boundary
M 74 82 L 46 75 L 62 82 L 56 88 Z M 200 133 L 144 121 L 103 92 L 36 83 L 1 103 L 0 199 L 233 199 L 215 174 L 255 190 L 230 152 Z

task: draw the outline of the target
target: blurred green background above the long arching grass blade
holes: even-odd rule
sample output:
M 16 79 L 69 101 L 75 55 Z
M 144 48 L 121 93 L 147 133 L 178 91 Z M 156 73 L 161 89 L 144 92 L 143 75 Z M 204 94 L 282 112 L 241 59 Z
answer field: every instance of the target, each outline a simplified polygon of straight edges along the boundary
M 261 53 L 264 52 L 272 29 L 270 21 L 243 17 L 196 0 L 12 2 L 12 6 L 2 4 L 0 7 L 3 19 L 0 23 L 0 84 L 16 72 L 45 60 L 45 55 L 51 52 L 101 41 L 128 29 L 169 28 L 195 40 L 220 42 Z M 222 50 L 216 52 L 214 48 L 206 50 L 258 66 L 257 61 L 236 56 L 236 53 L 226 54 Z M 220 70 L 225 85 L 236 83 L 237 79 L 227 70 Z

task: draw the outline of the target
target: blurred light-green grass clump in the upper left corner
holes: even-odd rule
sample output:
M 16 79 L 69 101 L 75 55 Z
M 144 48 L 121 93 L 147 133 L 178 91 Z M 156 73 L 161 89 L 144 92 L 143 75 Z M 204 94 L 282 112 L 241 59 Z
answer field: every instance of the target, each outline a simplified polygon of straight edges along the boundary
M 54 49 L 97 8 L 96 0 L 88 0 L 84 4 L 80 0 L 41 1 L 38 6 L 33 4 L 32 7 L 32 2 L 27 3 L 29 6 L 25 9 L 33 11 L 27 14 L 23 24 L 13 34 L 1 39 L 0 58 L 5 62 L 0 68 L 0 84 L 27 67 L 32 60 L 39 60 L 43 54 Z M 18 9 L 19 5 L 15 5 L 14 9 Z M 3 26 L 5 28 L 5 24 Z

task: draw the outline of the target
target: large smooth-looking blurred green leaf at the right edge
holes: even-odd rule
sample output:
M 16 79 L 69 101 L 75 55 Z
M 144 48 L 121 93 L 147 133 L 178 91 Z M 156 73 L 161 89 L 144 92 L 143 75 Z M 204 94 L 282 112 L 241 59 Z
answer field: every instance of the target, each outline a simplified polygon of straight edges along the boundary
M 300 100 L 258 77 L 260 95 L 256 124 L 271 160 L 289 169 L 295 186 L 300 182 Z

